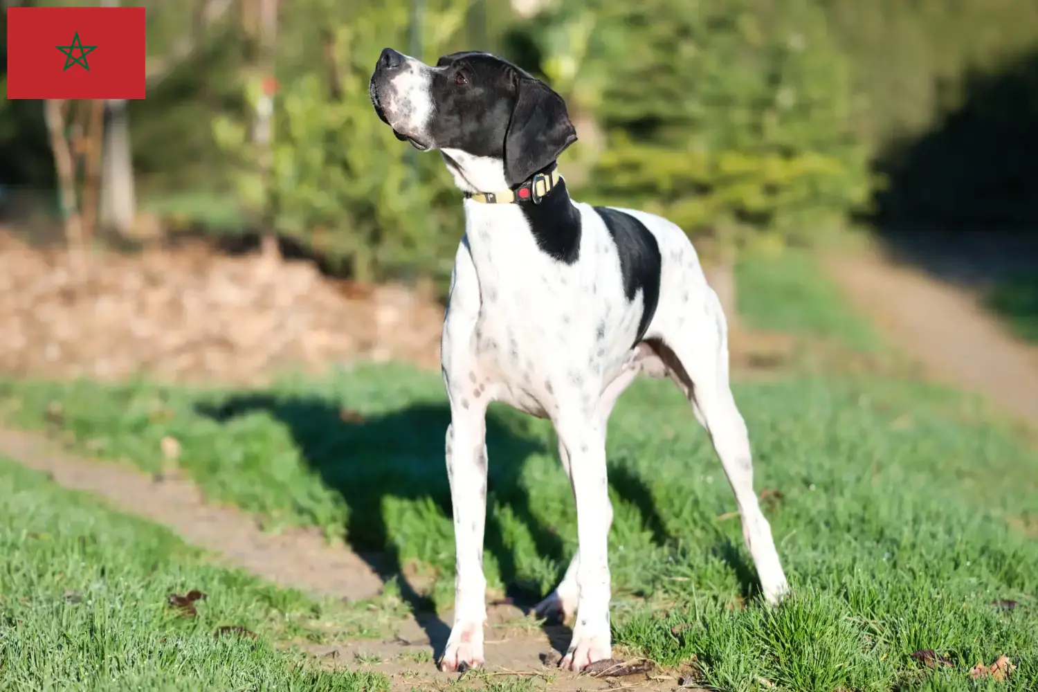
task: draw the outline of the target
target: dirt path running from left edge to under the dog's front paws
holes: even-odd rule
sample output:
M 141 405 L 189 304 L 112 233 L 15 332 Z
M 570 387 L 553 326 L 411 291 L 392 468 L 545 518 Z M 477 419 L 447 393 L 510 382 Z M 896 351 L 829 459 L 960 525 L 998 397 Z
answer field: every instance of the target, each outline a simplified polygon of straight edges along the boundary
M 359 555 L 345 546 L 330 546 L 312 531 L 265 533 L 256 519 L 233 507 L 215 506 L 198 488 L 183 478 L 161 478 L 130 467 L 75 456 L 38 435 L 0 428 L 0 456 L 49 474 L 70 490 L 90 493 L 114 509 L 163 524 L 187 543 L 210 552 L 222 563 L 242 568 L 269 581 L 312 593 L 351 601 L 371 599 L 383 582 Z M 303 644 L 319 665 L 368 669 L 390 676 L 392 689 L 404 692 L 441 690 L 458 679 L 440 673 L 433 663 L 449 630 L 449 614 L 419 613 L 393 626 L 386 640 L 355 640 L 335 645 Z M 567 627 L 540 628 L 519 609 L 495 605 L 489 609 L 486 631 L 488 667 L 469 673 L 466 687 L 501 675 L 535 677 L 537 688 L 551 692 L 614 689 L 672 690 L 678 672 L 645 672 L 623 679 L 596 679 L 564 673 L 551 665 L 569 643 Z M 614 656 L 622 652 L 614 652 Z M 545 664 L 547 661 L 547 664 Z M 683 688 L 693 690 L 694 688 Z

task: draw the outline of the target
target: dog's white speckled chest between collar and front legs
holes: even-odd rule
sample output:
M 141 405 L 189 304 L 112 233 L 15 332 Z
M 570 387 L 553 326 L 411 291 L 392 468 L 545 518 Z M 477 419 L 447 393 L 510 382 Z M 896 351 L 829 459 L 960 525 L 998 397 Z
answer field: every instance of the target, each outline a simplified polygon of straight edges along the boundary
M 517 210 L 518 213 L 518 210 Z M 610 246 L 585 229 L 586 254 L 600 261 L 558 261 L 528 231 L 501 223 L 467 228 L 479 267 L 474 358 L 492 397 L 537 416 L 558 406 L 594 406 L 632 347 L 637 310 L 624 300 L 619 272 L 603 271 Z M 616 258 L 612 258 L 613 261 Z M 628 314 L 629 313 L 629 314 Z

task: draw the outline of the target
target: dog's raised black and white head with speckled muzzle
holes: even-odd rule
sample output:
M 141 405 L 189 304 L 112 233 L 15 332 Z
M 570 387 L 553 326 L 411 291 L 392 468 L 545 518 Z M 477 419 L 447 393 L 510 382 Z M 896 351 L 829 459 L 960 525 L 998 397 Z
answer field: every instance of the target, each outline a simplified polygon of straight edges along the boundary
M 439 149 L 469 192 L 518 185 L 577 139 L 562 96 L 489 53 L 444 55 L 433 67 L 387 48 L 368 90 L 398 139 Z

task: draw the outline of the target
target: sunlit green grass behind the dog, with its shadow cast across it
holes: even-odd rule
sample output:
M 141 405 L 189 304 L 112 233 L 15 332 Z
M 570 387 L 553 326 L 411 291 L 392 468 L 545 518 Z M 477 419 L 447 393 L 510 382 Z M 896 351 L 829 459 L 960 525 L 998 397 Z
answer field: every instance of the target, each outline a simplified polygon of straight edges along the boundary
M 321 526 L 425 563 L 444 606 L 454 541 L 441 387 L 386 366 L 254 392 L 10 382 L 0 398 L 15 422 L 148 470 L 172 436 L 210 497 L 275 528 Z M 797 692 L 987 689 L 966 671 L 1003 654 L 1019 667 L 998 689 L 1038 680 L 1038 545 L 1014 528 L 1038 524 L 1035 453 L 941 389 L 791 378 L 739 384 L 736 396 L 757 488 L 782 493 L 765 511 L 796 597 L 776 612 L 759 604 L 706 435 L 673 387 L 640 382 L 608 441 L 620 643 L 666 665 L 694 660 L 721 690 L 761 679 Z M 47 413 L 53 400 L 60 414 Z M 547 423 L 494 408 L 488 430 L 488 580 L 540 596 L 576 547 L 570 488 Z M 991 605 L 1005 599 L 1019 605 Z M 956 665 L 931 674 L 909 656 L 920 648 Z

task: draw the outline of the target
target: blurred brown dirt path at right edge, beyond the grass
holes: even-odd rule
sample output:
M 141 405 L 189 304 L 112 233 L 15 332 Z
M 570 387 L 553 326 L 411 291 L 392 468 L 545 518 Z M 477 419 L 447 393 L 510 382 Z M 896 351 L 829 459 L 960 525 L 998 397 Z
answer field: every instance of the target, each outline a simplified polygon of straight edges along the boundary
M 1038 348 L 1011 337 L 976 293 L 879 250 L 827 259 L 851 302 L 895 348 L 945 384 L 987 397 L 1038 430 Z

